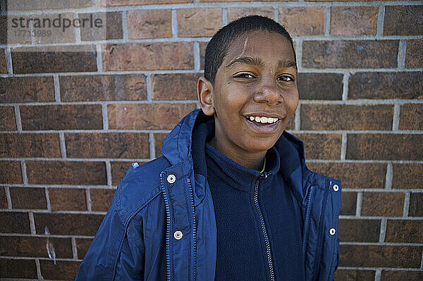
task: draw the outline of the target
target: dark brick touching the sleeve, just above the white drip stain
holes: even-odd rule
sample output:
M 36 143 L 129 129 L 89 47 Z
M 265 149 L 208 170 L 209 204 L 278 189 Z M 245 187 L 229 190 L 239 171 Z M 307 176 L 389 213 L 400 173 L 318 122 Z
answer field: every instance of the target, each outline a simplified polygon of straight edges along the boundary
M 104 216 L 86 213 L 34 213 L 37 234 L 94 236 Z

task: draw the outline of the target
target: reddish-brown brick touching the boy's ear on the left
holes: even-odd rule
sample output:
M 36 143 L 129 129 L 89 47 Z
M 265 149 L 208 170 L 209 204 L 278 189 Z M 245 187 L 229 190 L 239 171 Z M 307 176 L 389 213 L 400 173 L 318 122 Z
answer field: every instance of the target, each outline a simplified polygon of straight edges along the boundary
M 197 73 L 152 75 L 153 99 L 197 101 Z

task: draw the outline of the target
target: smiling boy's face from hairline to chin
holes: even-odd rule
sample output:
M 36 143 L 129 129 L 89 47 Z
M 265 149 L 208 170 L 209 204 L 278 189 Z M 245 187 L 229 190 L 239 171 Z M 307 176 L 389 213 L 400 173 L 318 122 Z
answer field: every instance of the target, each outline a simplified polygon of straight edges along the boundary
M 298 106 L 296 79 L 294 53 L 283 35 L 258 30 L 235 40 L 214 86 L 207 85 L 211 89 L 203 97 L 209 106 L 201 101 L 199 82 L 200 104 L 204 113 L 214 114 L 221 152 L 242 157 L 274 146 Z

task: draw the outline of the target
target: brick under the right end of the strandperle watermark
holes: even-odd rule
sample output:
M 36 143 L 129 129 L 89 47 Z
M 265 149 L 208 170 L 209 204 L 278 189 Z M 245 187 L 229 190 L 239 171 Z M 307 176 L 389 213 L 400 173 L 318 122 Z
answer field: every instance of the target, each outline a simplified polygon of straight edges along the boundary
M 83 20 L 101 20 L 97 25 L 88 25 L 80 27 L 81 41 L 91 40 L 105 40 L 105 39 L 122 39 L 122 13 L 109 12 L 109 13 L 80 13 L 78 18 Z

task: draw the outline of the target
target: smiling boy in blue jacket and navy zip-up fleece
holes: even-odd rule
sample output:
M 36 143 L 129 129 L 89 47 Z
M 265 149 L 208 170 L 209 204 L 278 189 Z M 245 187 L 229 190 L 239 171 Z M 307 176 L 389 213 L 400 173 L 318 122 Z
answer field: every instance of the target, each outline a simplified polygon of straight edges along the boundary
M 293 42 L 261 16 L 207 45 L 201 110 L 128 170 L 77 280 L 333 280 L 341 183 L 285 132 L 298 106 Z

